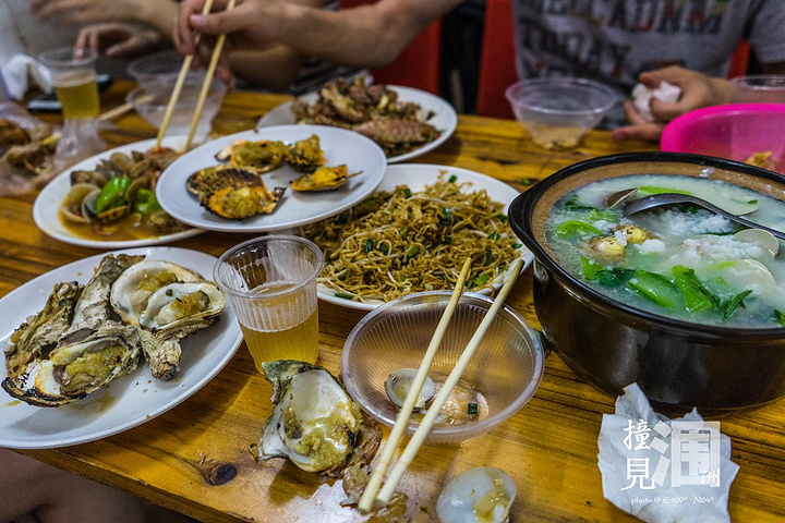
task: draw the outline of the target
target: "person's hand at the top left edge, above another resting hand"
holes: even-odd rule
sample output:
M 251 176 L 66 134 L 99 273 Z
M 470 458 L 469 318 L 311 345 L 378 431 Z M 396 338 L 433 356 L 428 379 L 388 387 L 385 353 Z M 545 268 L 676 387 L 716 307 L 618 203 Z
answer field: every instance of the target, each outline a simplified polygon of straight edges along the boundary
M 142 3 L 138 0 L 29 0 L 31 10 L 39 21 L 67 26 L 138 20 Z

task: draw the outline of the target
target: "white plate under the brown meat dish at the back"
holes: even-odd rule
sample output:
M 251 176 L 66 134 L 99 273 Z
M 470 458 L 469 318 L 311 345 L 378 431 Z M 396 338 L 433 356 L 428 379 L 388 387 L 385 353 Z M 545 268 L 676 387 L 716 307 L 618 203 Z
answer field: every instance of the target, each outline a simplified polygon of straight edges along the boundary
M 455 133 L 455 130 L 458 126 L 458 113 L 452 106 L 447 102 L 447 100 L 425 90 L 413 89 L 411 87 L 403 87 L 400 85 L 388 85 L 387 87 L 398 93 L 398 99 L 400 101 L 413 101 L 419 104 L 420 107 L 423 108 L 423 111 L 433 111 L 434 117 L 428 120 L 427 123 L 442 131 L 438 138 L 423 145 L 422 147 L 418 147 L 414 150 L 410 150 L 404 155 L 387 158 L 387 163 L 399 163 L 430 153 L 447 142 L 452 133 Z M 306 104 L 313 104 L 318 100 L 318 93 L 309 93 L 307 95 L 301 96 L 300 99 Z M 291 112 L 291 101 L 285 101 L 280 106 L 273 108 L 267 114 L 262 117 L 256 124 L 256 127 L 259 129 L 271 125 L 287 125 L 295 123 L 294 114 Z

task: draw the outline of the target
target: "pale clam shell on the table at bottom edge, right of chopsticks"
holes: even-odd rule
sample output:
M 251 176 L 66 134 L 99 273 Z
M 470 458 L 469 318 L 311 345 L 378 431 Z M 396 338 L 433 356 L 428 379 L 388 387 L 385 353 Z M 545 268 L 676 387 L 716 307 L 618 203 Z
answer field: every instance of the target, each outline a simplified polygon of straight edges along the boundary
M 509 519 L 516 494 L 515 482 L 504 471 L 478 466 L 447 484 L 436 513 L 443 523 L 503 523 Z

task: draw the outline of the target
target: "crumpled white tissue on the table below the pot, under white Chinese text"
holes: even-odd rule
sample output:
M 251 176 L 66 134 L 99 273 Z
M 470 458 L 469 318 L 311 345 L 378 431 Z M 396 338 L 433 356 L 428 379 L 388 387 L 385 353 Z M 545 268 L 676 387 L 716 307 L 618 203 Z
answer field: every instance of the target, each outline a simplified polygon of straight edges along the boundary
M 729 522 L 728 491 L 738 465 L 718 422 L 692 410 L 668 419 L 637 384 L 603 415 L 597 438 L 603 496 L 649 523 Z

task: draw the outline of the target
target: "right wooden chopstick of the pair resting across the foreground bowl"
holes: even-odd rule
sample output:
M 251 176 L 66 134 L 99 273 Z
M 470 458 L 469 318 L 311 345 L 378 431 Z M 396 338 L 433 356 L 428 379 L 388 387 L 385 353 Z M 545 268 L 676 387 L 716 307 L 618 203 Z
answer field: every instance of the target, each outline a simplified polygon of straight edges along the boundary
M 523 260 L 518 259 L 512 266 L 512 271 L 509 278 L 507 278 L 504 287 L 499 291 L 498 296 L 496 296 L 493 305 L 491 305 L 491 308 L 488 308 L 488 312 L 485 314 L 485 317 L 480 324 L 480 327 L 478 327 L 476 331 L 474 331 L 474 336 L 472 336 L 469 344 L 463 350 L 463 354 L 461 354 L 460 358 L 458 358 L 458 363 L 456 363 L 452 372 L 449 374 L 447 380 L 439 389 L 438 394 L 436 394 L 436 398 L 434 398 L 433 402 L 431 403 L 431 408 L 428 409 L 427 414 L 425 414 L 425 417 L 423 418 L 422 423 L 412 436 L 409 445 L 407 445 L 406 450 L 403 450 L 403 453 L 398 459 L 398 462 L 392 469 L 390 476 L 387 478 L 387 483 L 382 488 L 382 491 L 376 498 L 382 503 L 387 504 L 392 495 L 395 494 L 395 490 L 398 487 L 401 477 L 406 473 L 407 467 L 409 467 L 412 460 L 414 459 L 414 455 L 420 450 L 423 441 L 425 441 L 425 437 L 431 431 L 431 428 L 436 421 L 436 416 L 438 416 L 439 411 L 442 411 L 442 408 L 447 401 L 447 397 L 450 394 L 450 392 L 452 392 L 456 384 L 458 384 L 458 380 L 463 374 L 463 370 L 466 370 L 466 367 L 469 365 L 471 356 L 474 354 L 474 351 L 476 351 L 478 346 L 480 346 L 480 342 L 485 337 L 485 332 L 487 331 L 488 327 L 491 327 L 491 324 L 496 317 L 496 314 L 498 314 L 499 308 L 504 306 L 507 294 L 509 294 L 509 292 L 512 290 L 512 285 L 518 279 L 518 275 L 520 273 L 522 264 Z

